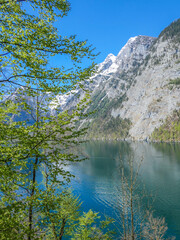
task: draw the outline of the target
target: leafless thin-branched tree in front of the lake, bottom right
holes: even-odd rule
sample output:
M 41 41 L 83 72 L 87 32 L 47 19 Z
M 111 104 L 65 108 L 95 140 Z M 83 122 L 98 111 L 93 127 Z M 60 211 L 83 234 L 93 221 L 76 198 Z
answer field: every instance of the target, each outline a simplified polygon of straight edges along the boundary
M 167 238 L 167 224 L 164 218 L 154 217 L 151 203 L 152 196 L 146 194 L 139 181 L 140 168 L 143 162 L 135 162 L 130 155 L 127 162 L 121 161 L 121 186 L 119 189 L 120 217 L 118 239 L 174 239 Z M 144 203 L 143 203 L 144 202 Z

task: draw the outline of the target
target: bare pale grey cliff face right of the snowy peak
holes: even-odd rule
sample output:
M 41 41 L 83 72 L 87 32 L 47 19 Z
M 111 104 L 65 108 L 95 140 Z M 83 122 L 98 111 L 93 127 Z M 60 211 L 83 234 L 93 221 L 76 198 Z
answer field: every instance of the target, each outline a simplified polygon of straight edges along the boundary
M 180 89 L 169 85 L 171 79 L 180 77 L 179 45 L 160 39 L 154 49 L 141 75 L 136 76 L 136 84 L 127 91 L 128 101 L 111 112 L 114 117 L 119 114 L 131 120 L 130 136 L 134 139 L 148 138 L 180 105 Z

